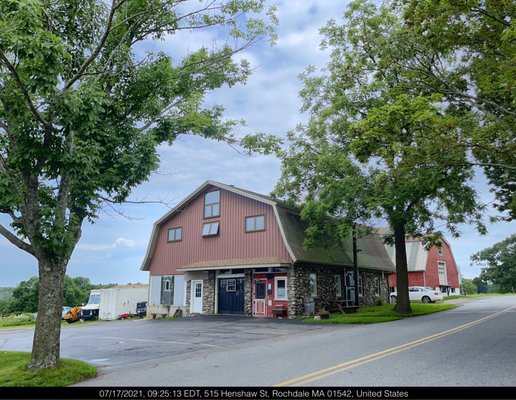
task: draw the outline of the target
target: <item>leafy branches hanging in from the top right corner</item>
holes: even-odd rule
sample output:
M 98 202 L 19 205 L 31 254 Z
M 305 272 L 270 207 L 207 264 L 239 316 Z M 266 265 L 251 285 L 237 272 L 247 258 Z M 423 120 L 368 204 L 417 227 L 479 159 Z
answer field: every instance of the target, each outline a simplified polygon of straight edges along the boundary
M 461 138 L 483 168 L 504 219 L 516 217 L 516 3 L 512 0 L 394 0 L 418 38 L 405 67 L 413 84 L 470 110 Z

